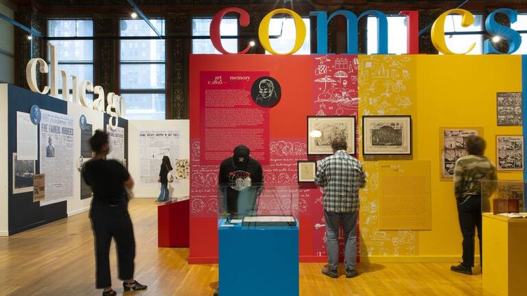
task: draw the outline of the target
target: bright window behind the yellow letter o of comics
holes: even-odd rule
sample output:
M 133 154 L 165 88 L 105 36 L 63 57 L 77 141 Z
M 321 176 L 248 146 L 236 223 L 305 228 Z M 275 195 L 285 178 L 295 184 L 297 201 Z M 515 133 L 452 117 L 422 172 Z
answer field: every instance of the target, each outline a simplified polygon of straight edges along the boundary
M 293 54 L 311 54 L 311 29 L 309 28 L 309 18 L 302 18 L 305 24 L 304 44 L 296 53 Z M 272 49 L 277 53 L 288 53 L 294 47 L 296 40 L 296 28 L 294 27 L 293 18 L 271 18 L 269 23 L 269 36 L 279 36 L 279 38 L 270 38 Z M 266 51 L 266 54 L 270 54 Z

